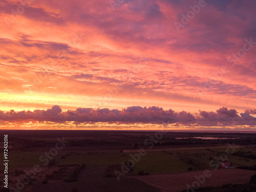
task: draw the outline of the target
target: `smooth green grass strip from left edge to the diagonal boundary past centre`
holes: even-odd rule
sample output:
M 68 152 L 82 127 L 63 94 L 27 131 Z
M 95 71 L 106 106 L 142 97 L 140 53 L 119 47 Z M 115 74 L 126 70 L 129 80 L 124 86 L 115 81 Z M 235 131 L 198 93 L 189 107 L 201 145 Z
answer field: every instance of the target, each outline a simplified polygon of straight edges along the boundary
M 44 166 L 43 162 L 39 160 L 41 155 L 45 152 L 12 152 L 10 153 L 10 169 L 18 169 L 24 167 L 32 167 L 35 164 Z M 1 155 L 1 153 L 0 153 Z M 62 159 L 65 157 L 65 159 Z M 56 165 L 72 165 L 72 164 L 86 164 L 87 166 L 101 166 L 111 164 L 121 164 L 127 160 L 132 159 L 130 154 L 123 153 L 82 153 L 76 151 L 60 151 L 56 159 Z M 45 161 L 44 161 L 45 162 Z M 145 156 L 141 156 L 139 162 L 135 163 L 134 174 L 137 174 L 139 170 L 144 172 L 155 173 L 168 173 L 168 172 L 183 172 L 187 170 L 189 164 L 184 163 L 176 158 L 170 156 L 164 152 L 148 152 Z

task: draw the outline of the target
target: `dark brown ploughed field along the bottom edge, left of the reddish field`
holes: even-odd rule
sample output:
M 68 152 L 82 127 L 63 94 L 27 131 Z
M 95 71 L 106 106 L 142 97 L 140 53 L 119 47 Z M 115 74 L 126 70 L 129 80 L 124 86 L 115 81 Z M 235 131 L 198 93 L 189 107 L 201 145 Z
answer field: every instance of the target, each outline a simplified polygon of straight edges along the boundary
M 137 180 L 136 177 L 102 178 L 104 166 L 86 167 L 82 170 L 78 182 L 59 182 L 33 185 L 32 192 L 71 192 L 74 188 L 77 192 L 160 192 L 160 189 L 145 182 Z

